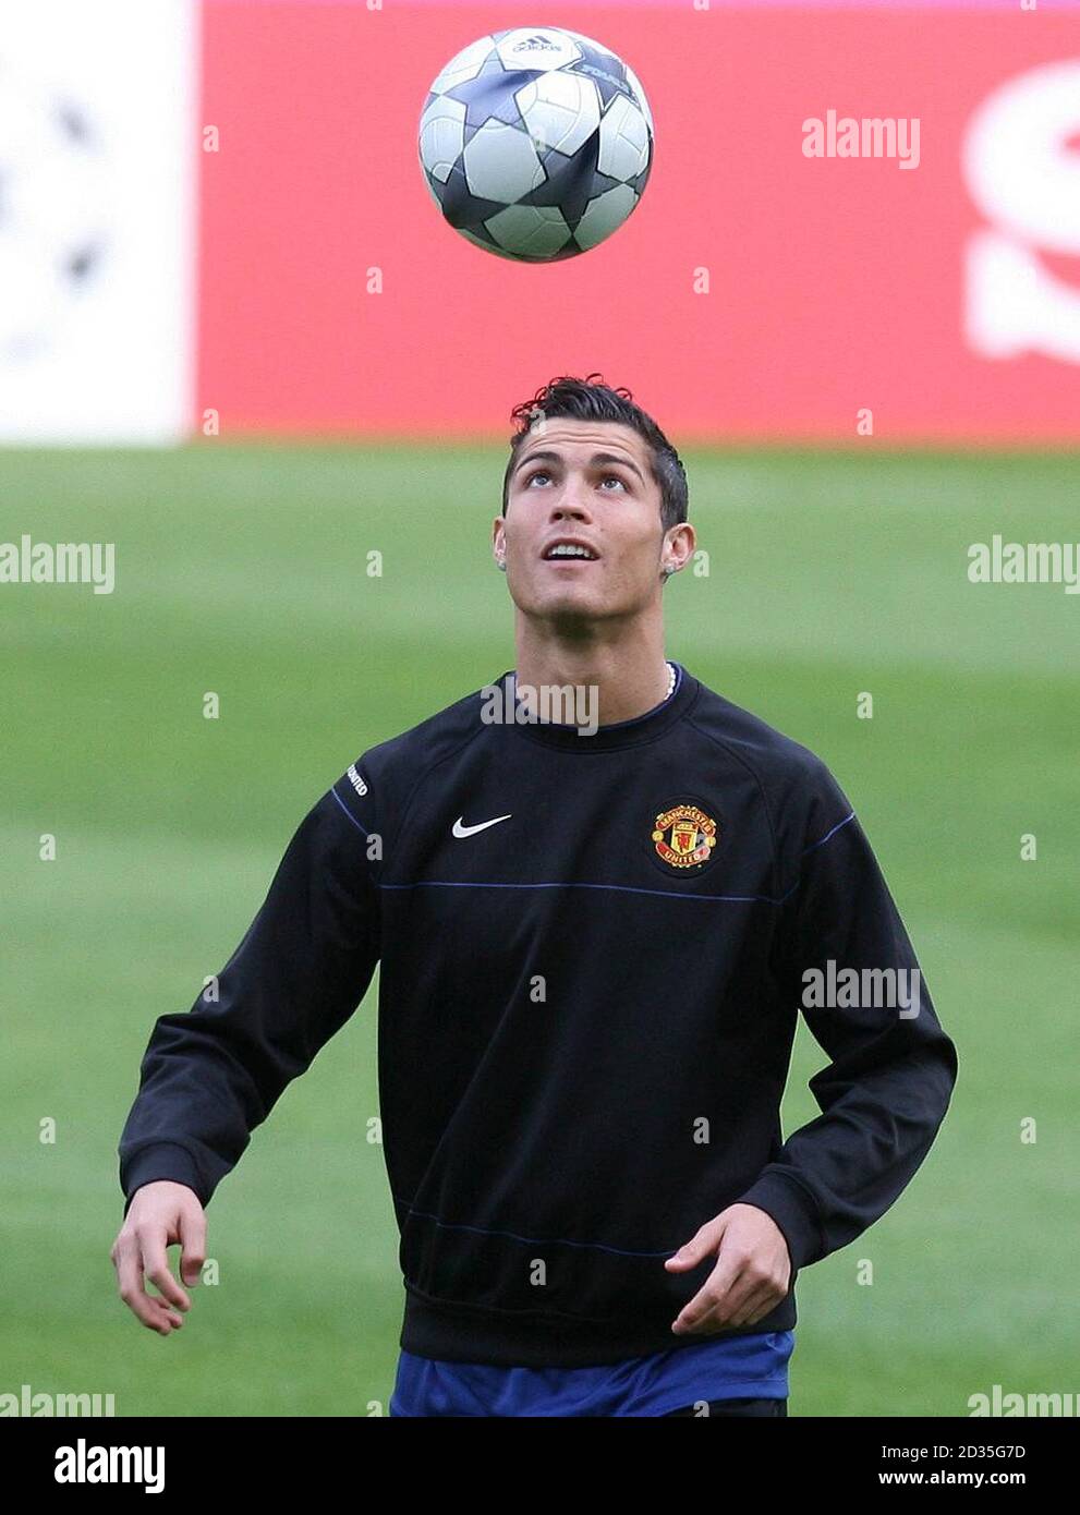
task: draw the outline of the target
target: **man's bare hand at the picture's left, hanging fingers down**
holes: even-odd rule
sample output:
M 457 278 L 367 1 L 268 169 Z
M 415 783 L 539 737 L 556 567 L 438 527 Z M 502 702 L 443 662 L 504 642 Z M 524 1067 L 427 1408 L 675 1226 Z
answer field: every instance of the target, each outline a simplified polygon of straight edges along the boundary
M 135 1191 L 124 1224 L 112 1244 L 120 1298 L 150 1330 L 168 1336 L 183 1326 L 179 1310 L 191 1298 L 168 1268 L 167 1247 L 180 1244 L 180 1277 L 192 1288 L 206 1260 L 206 1215 L 194 1189 L 171 1179 L 144 1183 Z M 161 1297 L 147 1294 L 145 1280 Z

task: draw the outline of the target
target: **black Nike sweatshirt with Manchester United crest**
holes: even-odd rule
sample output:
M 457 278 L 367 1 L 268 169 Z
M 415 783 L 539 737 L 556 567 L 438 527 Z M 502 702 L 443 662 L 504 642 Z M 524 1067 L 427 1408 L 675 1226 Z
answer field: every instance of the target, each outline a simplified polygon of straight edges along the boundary
M 467 695 L 311 809 L 217 1001 L 153 1029 L 127 1203 L 173 1179 L 206 1204 L 379 962 L 403 1348 L 576 1367 L 700 1344 L 671 1323 L 715 1259 L 663 1259 L 736 1201 L 794 1273 L 729 1335 L 788 1329 L 795 1273 L 889 1209 L 956 1080 L 859 820 L 806 747 L 685 668 L 594 735 L 492 711 Z M 830 1062 L 785 1142 L 800 1011 Z

